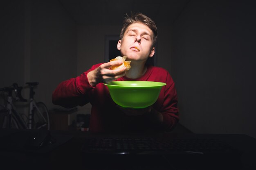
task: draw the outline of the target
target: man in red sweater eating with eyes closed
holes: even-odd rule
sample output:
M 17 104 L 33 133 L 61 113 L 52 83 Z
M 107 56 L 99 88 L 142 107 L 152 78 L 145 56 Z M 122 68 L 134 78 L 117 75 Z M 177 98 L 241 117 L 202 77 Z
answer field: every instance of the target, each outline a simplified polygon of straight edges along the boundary
M 147 132 L 171 131 L 179 121 L 177 94 L 173 79 L 164 69 L 146 65 L 148 57 L 155 54 L 157 27 L 142 13 L 133 13 L 124 19 L 117 43 L 121 56 L 127 56 L 126 67 L 111 70 L 120 61 L 93 65 L 76 78 L 61 82 L 52 94 L 52 102 L 66 108 L 92 105 L 89 130 L 94 132 Z M 157 81 L 162 87 L 155 104 L 145 109 L 119 107 L 110 97 L 110 81 Z M 125 97 L 125 96 L 124 96 Z

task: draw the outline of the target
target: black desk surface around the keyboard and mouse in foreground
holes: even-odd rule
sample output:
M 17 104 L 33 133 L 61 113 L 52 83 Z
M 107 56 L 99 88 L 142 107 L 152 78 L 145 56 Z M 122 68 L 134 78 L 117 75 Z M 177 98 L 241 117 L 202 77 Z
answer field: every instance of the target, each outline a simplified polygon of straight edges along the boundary
M 27 131 L 27 130 L 22 130 Z M 28 130 L 29 131 L 29 130 Z M 0 130 L 0 137 L 3 134 L 12 133 L 13 130 Z M 256 169 L 256 139 L 243 134 L 169 134 L 172 137 L 190 139 L 191 137 L 211 137 L 221 139 L 231 146 L 243 152 L 239 159 L 219 160 L 212 159 L 203 162 L 200 159 L 185 159 L 180 157 L 166 156 L 92 156 L 81 155 L 80 150 L 83 139 L 91 135 L 86 131 L 51 131 L 52 136 L 59 140 L 58 147 L 50 152 L 24 153 L 16 150 L 0 149 L 1 166 L 7 169 L 26 168 L 26 169 L 72 169 L 72 170 L 195 170 L 195 169 Z M 104 134 L 108 136 L 109 134 Z M 124 135 L 124 134 L 122 134 Z M 225 163 L 223 165 L 223 163 Z M 198 166 L 200 165 L 200 166 Z M 9 168 L 8 168 L 9 167 Z

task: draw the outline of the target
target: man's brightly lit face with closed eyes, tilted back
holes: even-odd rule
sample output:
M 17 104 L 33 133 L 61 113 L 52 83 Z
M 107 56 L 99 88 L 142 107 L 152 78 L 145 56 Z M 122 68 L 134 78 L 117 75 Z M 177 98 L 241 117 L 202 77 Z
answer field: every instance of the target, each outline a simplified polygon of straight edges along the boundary
M 121 55 L 127 56 L 129 60 L 146 61 L 155 54 L 152 45 L 153 32 L 145 24 L 137 22 L 128 26 L 123 39 L 117 43 L 117 49 L 121 50 Z

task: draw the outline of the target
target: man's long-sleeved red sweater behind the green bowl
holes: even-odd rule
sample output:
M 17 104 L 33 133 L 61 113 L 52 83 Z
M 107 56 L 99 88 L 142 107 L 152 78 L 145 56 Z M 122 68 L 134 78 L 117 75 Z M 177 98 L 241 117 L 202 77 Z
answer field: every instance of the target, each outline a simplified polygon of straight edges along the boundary
M 122 113 L 110 97 L 108 87 L 99 83 L 92 87 L 88 82 L 88 72 L 101 65 L 93 65 L 90 70 L 76 78 L 61 82 L 52 94 L 52 102 L 65 108 L 83 106 L 88 102 L 92 105 L 89 130 L 94 132 L 144 132 L 171 131 L 179 121 L 177 94 L 173 79 L 164 68 L 148 66 L 146 73 L 140 78 L 131 79 L 123 76 L 117 81 L 157 81 L 166 83 L 162 87 L 154 109 L 161 112 L 163 126 L 156 126 L 144 116 L 127 116 Z

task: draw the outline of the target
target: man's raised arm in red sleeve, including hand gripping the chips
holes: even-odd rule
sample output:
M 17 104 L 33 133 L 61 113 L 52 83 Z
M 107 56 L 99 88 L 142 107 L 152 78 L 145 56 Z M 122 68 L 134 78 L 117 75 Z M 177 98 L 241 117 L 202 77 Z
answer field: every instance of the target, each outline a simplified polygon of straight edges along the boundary
M 89 92 L 98 83 L 107 83 L 125 75 L 125 67 L 116 70 L 109 69 L 113 65 L 119 64 L 120 61 L 110 61 L 93 65 L 80 76 L 61 82 L 52 94 L 53 104 L 66 108 L 87 104 Z

